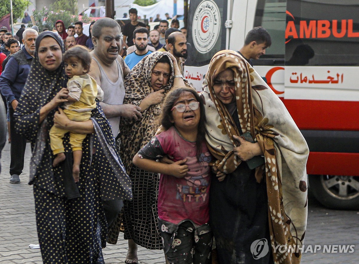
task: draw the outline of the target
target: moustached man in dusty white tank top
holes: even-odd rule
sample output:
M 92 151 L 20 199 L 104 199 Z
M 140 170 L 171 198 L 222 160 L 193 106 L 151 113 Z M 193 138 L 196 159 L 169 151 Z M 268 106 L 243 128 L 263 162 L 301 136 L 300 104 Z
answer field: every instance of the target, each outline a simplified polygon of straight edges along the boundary
M 119 132 L 120 118 L 141 118 L 141 108 L 131 104 L 123 105 L 125 87 L 123 78 L 130 72 L 122 57 L 121 28 L 111 18 L 101 18 L 92 27 L 92 63 L 89 75 L 93 77 L 104 92 L 101 106 L 112 126 L 113 136 Z

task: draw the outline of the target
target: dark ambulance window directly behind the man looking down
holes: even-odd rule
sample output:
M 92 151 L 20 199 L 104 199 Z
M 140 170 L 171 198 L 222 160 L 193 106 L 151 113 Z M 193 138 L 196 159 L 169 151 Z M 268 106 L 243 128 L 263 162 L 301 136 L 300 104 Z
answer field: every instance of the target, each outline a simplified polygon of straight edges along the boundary
M 272 39 L 272 45 L 261 59 L 284 59 L 285 9 L 286 0 L 258 0 L 254 27 L 264 27 Z

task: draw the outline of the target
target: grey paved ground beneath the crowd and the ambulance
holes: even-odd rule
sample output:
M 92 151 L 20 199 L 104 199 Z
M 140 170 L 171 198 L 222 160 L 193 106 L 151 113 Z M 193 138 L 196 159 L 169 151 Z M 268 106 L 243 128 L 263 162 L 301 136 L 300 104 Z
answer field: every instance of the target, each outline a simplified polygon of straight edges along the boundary
M 0 263 L 42 264 L 39 249 L 30 249 L 29 244 L 38 244 L 32 186 L 27 184 L 29 173 L 30 145 L 25 154 L 25 168 L 20 175 L 20 184 L 9 183 L 10 144 L 5 145 L 1 158 L 0 174 Z M 323 208 L 309 196 L 309 215 L 305 245 L 320 245 L 316 253 L 303 253 L 302 263 L 311 264 L 358 264 L 359 263 L 359 212 L 336 211 Z M 353 253 L 323 253 L 324 245 L 355 245 Z M 305 247 L 307 249 L 307 247 Z M 106 264 L 123 263 L 127 241 L 122 235 L 117 245 L 108 245 L 104 250 Z M 163 252 L 139 247 L 140 263 L 165 263 Z

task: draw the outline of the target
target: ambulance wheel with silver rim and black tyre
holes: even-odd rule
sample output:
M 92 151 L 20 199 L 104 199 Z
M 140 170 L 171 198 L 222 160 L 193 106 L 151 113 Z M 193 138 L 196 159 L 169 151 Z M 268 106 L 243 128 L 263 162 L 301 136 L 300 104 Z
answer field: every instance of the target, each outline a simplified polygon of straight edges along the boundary
M 308 175 L 309 188 L 324 206 L 338 210 L 359 210 L 359 177 Z

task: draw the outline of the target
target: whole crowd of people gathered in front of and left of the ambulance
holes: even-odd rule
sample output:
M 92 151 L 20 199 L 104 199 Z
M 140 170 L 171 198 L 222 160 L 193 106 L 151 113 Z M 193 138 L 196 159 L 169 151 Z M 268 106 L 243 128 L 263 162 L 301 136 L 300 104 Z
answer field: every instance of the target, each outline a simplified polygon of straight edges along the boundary
M 302 245 L 307 220 L 307 144 L 251 64 L 269 34 L 255 28 L 241 50 L 216 53 L 198 93 L 183 78 L 185 28 L 129 17 L 122 32 L 98 19 L 89 36 L 80 21 L 24 29 L 21 46 L 0 29 L 10 183 L 29 141 L 43 263 L 104 263 L 119 232 L 127 264 L 138 245 L 167 263 L 299 263 L 251 249 Z

